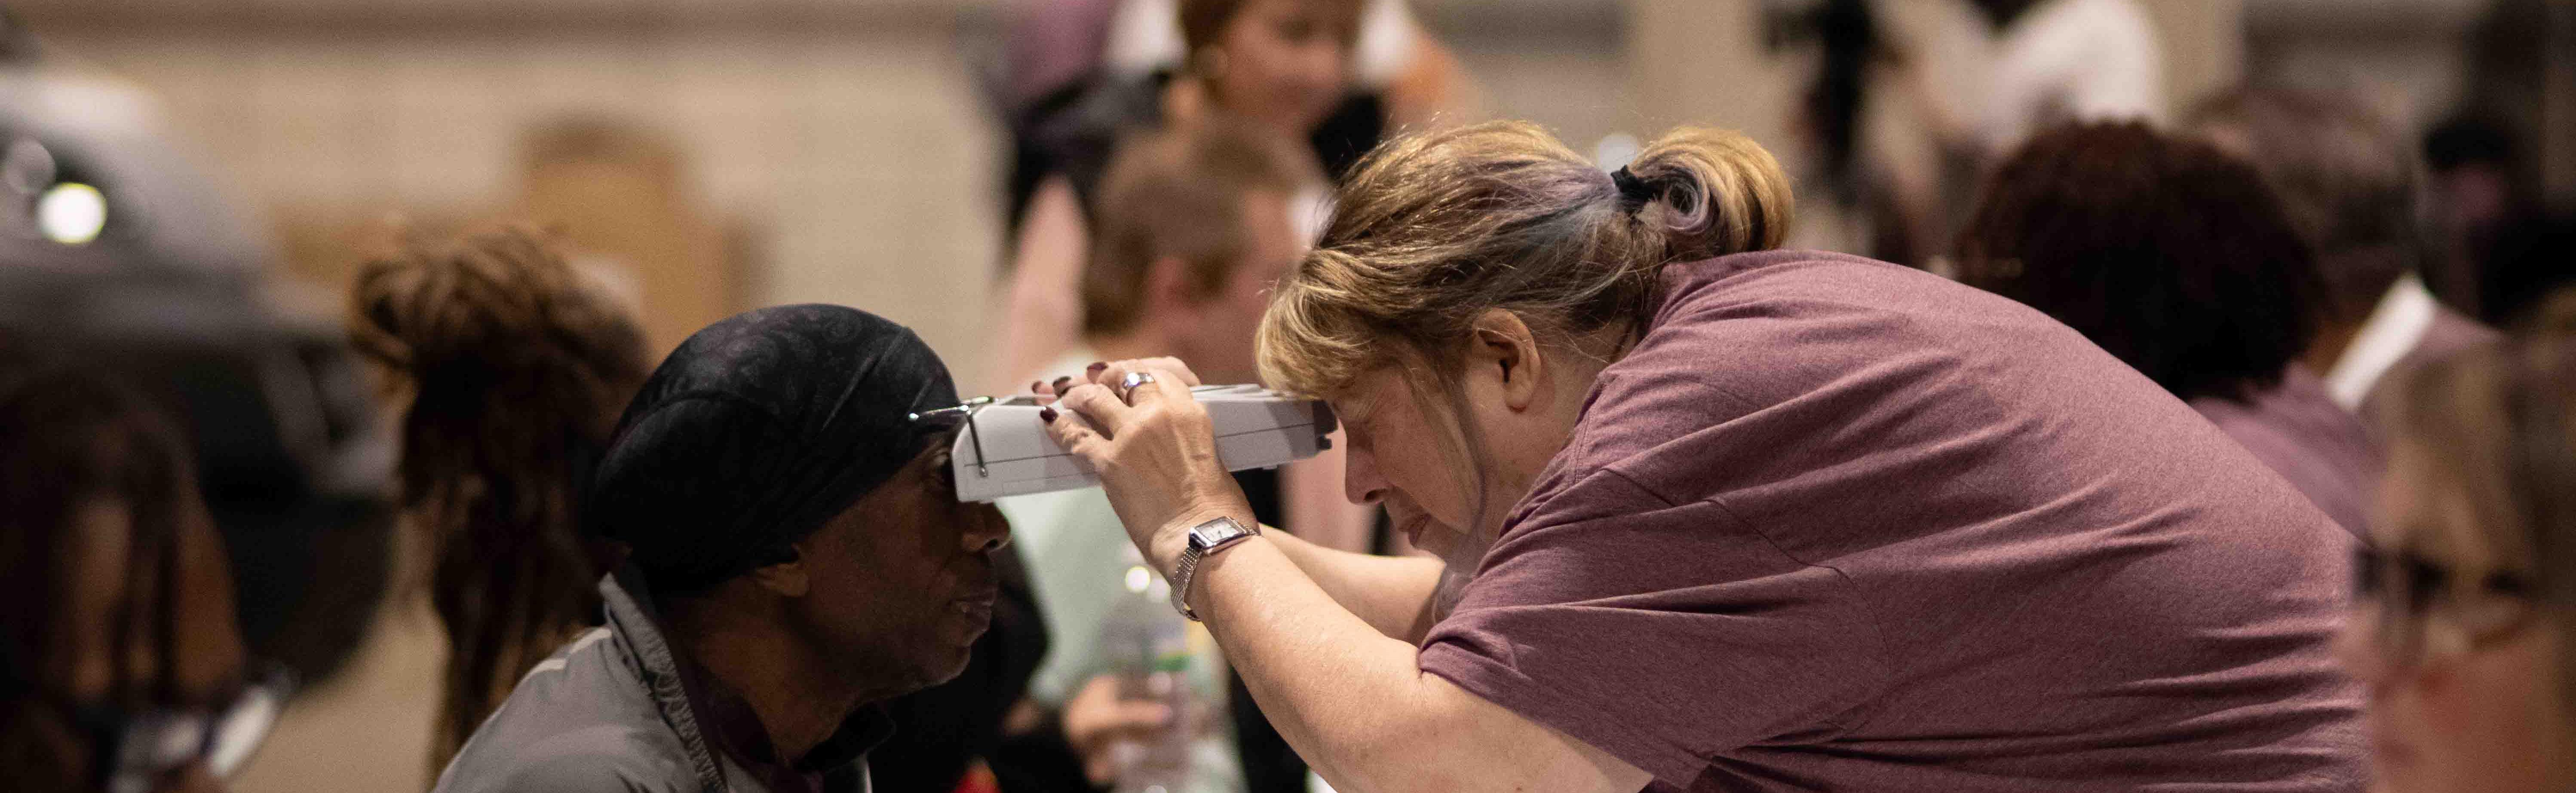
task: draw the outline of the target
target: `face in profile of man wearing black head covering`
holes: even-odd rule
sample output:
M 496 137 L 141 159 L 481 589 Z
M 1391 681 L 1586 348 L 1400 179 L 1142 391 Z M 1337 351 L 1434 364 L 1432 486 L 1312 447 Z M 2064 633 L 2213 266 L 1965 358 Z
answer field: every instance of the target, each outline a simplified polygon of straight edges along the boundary
M 948 440 L 835 515 L 804 554 L 801 615 L 819 646 L 907 690 L 966 669 L 999 597 L 989 554 L 1010 541 L 999 510 L 956 499 Z

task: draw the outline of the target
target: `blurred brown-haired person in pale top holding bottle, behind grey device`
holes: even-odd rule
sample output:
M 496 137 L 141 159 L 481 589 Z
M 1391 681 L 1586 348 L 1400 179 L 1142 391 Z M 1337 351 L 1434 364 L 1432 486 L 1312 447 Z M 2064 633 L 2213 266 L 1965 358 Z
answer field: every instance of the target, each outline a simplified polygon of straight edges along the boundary
M 1270 301 L 1270 283 L 1306 252 L 1296 201 L 1321 183 L 1296 142 L 1239 118 L 1208 118 L 1131 139 L 1100 188 L 1092 252 L 1082 273 L 1082 345 L 1038 368 L 1046 381 L 1082 373 L 1092 360 L 1180 355 L 1216 384 L 1257 381 L 1252 335 Z M 1285 525 L 1278 471 L 1242 471 L 1257 520 Z M 1126 595 L 1136 559 L 1118 512 L 1100 489 L 1054 492 L 999 502 L 1010 515 L 1046 610 L 1054 651 L 1038 669 L 1036 698 L 1061 713 L 1069 744 L 1084 754 L 1092 783 L 1110 783 L 1110 747 L 1198 713 L 1136 711 L 1105 698 L 1113 685 L 1110 646 L 1100 631 Z M 1306 765 L 1270 729 L 1249 693 L 1229 685 L 1213 646 L 1193 657 L 1200 700 L 1221 703 L 1200 731 L 1188 790 L 1303 790 Z M 1229 703 L 1229 690 L 1234 690 Z M 1236 762 L 1239 754 L 1239 762 Z M 1185 790 L 1172 790 L 1185 793 Z

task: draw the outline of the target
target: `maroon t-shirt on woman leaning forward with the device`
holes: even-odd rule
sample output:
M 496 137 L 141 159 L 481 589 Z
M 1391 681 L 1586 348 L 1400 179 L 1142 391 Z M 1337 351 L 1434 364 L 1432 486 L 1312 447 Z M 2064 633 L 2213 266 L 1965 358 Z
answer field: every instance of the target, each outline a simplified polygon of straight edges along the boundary
M 1422 669 L 1649 790 L 2362 790 L 2352 536 L 2074 330 L 1669 268 Z

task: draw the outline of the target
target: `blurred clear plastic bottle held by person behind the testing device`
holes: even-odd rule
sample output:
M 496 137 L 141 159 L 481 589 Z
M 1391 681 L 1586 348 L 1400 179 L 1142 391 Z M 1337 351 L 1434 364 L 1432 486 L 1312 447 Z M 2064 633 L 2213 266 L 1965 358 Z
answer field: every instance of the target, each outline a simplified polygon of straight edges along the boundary
M 1172 721 L 1144 742 L 1110 747 L 1115 793 L 1185 793 L 1190 783 L 1190 620 L 1172 610 L 1172 584 L 1128 551 L 1126 590 L 1100 628 L 1121 700 L 1170 708 Z

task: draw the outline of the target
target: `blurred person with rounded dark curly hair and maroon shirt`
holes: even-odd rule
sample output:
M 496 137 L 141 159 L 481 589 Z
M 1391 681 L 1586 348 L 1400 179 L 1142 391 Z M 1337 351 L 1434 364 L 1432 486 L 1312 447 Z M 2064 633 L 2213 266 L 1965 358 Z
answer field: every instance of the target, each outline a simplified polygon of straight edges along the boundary
M 2251 165 L 2136 121 L 2061 126 L 1994 173 L 1958 257 L 1960 281 L 2084 332 L 2365 530 L 2380 456 L 2298 363 L 2329 294 Z

